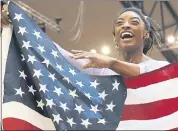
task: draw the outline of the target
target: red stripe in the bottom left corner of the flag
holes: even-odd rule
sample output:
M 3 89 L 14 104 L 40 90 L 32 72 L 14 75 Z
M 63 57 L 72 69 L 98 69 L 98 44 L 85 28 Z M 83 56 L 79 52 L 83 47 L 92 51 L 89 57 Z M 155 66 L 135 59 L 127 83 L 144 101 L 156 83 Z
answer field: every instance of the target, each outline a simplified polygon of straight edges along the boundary
M 3 130 L 41 130 L 41 129 L 24 120 L 20 120 L 17 118 L 5 118 L 3 119 Z

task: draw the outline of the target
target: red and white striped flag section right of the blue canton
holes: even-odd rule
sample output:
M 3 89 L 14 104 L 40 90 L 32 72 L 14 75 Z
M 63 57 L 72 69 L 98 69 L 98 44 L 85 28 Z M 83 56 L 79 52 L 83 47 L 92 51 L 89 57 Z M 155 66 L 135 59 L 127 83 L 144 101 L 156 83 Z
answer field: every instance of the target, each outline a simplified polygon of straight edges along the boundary
M 127 98 L 118 130 L 178 129 L 178 62 L 124 83 Z

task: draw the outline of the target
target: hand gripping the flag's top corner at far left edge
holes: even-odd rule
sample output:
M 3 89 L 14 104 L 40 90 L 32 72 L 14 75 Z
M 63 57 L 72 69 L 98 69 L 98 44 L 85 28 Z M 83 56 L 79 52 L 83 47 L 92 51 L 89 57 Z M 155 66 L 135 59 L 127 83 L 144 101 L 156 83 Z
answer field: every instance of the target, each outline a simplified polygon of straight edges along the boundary
M 9 26 L 9 16 L 8 16 L 8 7 L 7 5 L 3 5 L 1 8 L 1 28 Z

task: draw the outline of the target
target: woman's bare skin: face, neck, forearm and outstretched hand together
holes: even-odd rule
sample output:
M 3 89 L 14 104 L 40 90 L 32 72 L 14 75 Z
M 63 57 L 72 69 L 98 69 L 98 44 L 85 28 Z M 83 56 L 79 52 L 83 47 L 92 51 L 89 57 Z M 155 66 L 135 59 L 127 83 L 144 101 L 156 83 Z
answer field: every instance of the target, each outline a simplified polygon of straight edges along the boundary
M 131 32 L 134 37 L 123 40 L 120 34 Z M 116 20 L 114 41 L 119 46 L 118 59 L 82 50 L 72 50 L 70 57 L 74 59 L 89 59 L 83 68 L 109 68 L 126 77 L 140 75 L 138 63 L 150 58 L 143 55 L 144 38 L 148 37 L 145 25 L 140 16 L 132 11 L 124 12 Z

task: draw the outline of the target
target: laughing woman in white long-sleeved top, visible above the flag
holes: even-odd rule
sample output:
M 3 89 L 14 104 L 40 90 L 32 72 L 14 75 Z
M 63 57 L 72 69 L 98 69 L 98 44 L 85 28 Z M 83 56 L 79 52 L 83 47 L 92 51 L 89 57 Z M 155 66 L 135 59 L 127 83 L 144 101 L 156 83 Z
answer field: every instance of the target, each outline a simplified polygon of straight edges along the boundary
M 3 12 L 7 12 L 7 8 L 3 9 Z M 3 19 L 7 19 L 6 14 L 2 13 Z M 9 25 L 8 20 L 3 20 L 3 25 Z M 144 55 L 153 43 L 159 44 L 157 36 L 159 34 L 150 25 L 150 19 L 146 18 L 141 10 L 137 8 L 122 10 L 114 23 L 113 35 L 119 51 L 118 59 L 79 50 L 72 50 L 73 54 L 71 54 L 57 44 L 56 46 L 74 66 L 90 75 L 121 74 L 132 77 L 169 64 L 166 61 L 156 61 Z

